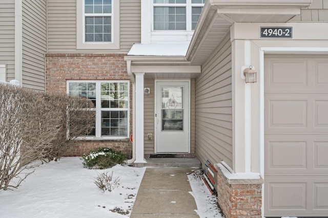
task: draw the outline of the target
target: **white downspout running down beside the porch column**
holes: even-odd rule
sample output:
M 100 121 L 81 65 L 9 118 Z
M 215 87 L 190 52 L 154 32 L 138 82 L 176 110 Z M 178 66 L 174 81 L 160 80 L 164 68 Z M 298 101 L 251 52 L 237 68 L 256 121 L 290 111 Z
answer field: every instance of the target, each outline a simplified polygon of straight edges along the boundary
M 131 60 L 127 60 L 127 71 L 132 81 L 132 159 L 128 160 L 128 164 L 135 161 L 135 78 L 131 71 Z

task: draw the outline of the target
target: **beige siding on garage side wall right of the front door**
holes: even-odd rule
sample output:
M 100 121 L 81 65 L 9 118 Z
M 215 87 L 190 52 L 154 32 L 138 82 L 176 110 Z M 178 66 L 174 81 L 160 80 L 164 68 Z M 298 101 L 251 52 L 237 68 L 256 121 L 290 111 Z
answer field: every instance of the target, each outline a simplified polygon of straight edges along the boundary
M 196 156 L 232 167 L 232 71 L 230 33 L 196 78 Z

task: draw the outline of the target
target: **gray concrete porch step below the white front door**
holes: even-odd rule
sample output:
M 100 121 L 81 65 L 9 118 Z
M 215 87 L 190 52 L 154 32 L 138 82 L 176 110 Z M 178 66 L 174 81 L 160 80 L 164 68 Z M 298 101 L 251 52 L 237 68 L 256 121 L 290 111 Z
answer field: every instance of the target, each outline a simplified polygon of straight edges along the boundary
M 194 158 L 150 158 L 144 156 L 146 163 L 133 163 L 134 167 L 181 167 L 181 168 L 201 168 L 201 163 L 197 157 Z

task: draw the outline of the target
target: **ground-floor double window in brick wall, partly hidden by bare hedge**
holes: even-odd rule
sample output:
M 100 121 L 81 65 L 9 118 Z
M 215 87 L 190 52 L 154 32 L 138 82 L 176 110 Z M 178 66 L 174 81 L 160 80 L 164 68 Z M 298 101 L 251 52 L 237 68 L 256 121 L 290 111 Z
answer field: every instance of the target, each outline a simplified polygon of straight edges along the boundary
M 90 99 L 96 114 L 91 133 L 86 139 L 122 139 L 129 135 L 129 82 L 116 80 L 70 80 L 67 92 L 72 96 Z

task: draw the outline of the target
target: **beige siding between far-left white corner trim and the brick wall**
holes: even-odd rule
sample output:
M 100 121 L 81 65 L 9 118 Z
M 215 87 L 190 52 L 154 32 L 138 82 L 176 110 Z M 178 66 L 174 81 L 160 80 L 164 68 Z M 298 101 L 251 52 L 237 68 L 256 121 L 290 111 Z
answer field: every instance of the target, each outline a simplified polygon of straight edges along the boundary
M 47 51 L 47 4 L 23 1 L 23 85 L 45 90 L 45 53 Z

